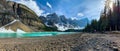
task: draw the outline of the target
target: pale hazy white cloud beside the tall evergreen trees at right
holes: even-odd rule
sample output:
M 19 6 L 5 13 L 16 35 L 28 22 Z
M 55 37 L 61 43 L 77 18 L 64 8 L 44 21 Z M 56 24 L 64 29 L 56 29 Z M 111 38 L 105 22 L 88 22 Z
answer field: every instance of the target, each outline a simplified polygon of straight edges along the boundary
M 87 9 L 83 12 L 85 17 L 89 18 L 89 20 L 92 20 L 92 19 L 99 20 L 100 13 L 102 12 L 102 10 L 104 8 L 104 4 L 105 4 L 104 2 L 105 2 L 105 0 L 98 0 L 98 1 L 92 2 L 92 3 L 88 2 L 89 5 L 86 6 Z M 96 4 L 96 3 L 98 3 L 98 4 Z

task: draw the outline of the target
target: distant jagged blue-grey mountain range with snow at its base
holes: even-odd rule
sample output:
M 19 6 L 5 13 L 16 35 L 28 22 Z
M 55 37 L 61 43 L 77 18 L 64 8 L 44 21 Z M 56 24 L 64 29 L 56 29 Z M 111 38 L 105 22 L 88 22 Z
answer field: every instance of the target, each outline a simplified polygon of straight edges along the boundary
M 87 23 L 89 23 L 87 18 L 76 20 L 66 18 L 64 15 L 58 16 L 56 13 L 48 14 L 47 16 L 40 16 L 39 18 L 46 26 L 57 27 L 59 31 L 83 29 Z

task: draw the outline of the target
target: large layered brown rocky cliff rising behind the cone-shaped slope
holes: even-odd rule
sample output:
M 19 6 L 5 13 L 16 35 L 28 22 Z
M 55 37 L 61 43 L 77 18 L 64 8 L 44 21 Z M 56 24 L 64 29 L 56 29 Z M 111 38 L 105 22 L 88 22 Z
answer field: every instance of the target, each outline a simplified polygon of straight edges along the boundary
M 11 1 L 1 0 L 0 2 L 0 27 L 19 20 L 24 25 L 28 26 L 34 31 L 43 31 L 44 24 L 38 18 L 36 13 L 26 7 Z

